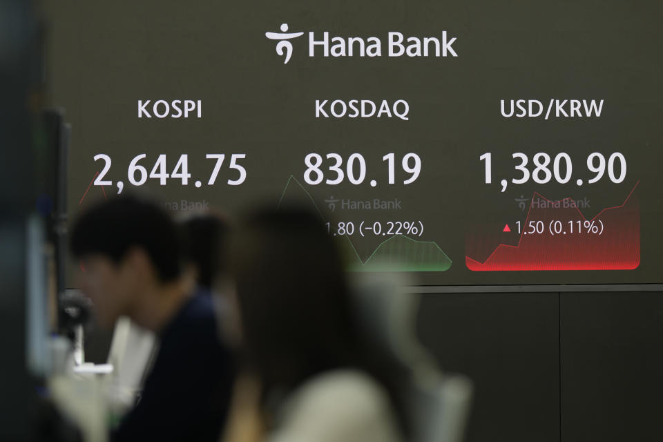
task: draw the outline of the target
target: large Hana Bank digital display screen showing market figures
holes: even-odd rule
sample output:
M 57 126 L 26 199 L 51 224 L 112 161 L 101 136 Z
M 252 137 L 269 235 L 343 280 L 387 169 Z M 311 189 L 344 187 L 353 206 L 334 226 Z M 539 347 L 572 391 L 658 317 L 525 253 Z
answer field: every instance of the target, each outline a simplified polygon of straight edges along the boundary
M 50 8 L 70 217 L 296 200 L 351 271 L 663 282 L 660 2 Z

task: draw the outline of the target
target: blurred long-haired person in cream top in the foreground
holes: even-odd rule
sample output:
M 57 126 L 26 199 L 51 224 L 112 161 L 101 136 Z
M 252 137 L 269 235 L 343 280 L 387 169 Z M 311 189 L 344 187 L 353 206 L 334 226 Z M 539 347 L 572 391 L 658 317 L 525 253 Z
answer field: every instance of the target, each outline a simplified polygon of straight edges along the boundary
M 265 209 L 230 246 L 247 373 L 227 441 L 396 442 L 407 434 L 385 359 L 363 344 L 320 216 Z

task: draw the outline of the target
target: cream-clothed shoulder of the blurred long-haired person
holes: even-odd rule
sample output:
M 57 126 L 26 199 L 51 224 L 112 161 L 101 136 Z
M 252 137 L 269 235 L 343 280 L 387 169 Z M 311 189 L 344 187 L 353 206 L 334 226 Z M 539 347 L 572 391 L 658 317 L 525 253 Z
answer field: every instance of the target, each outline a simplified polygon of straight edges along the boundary
M 356 370 L 321 374 L 301 385 L 282 407 L 271 442 L 399 441 L 385 389 Z

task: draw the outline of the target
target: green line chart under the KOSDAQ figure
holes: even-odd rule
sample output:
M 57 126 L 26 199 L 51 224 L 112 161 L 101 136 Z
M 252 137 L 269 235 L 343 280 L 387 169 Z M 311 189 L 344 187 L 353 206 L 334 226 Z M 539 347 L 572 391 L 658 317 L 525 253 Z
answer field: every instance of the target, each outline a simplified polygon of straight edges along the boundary
M 294 175 L 288 178 L 276 206 L 281 205 L 288 189 L 294 185 L 305 193 L 320 218 L 325 220 L 318 204 Z M 436 242 L 414 240 L 405 235 L 384 240 L 365 260 L 349 236 L 340 236 L 339 247 L 349 264 L 349 271 L 447 271 L 452 265 L 452 260 Z

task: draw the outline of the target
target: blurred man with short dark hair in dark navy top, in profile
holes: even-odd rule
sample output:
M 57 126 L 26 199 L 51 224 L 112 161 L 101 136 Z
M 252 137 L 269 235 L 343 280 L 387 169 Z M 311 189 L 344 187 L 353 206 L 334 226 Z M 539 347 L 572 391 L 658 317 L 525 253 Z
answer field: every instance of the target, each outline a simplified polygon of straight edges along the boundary
M 141 400 L 112 439 L 217 441 L 231 396 L 231 356 L 218 338 L 211 296 L 181 270 L 184 244 L 173 220 L 153 202 L 122 196 L 81 215 L 71 249 L 99 323 L 127 316 L 160 338 Z

